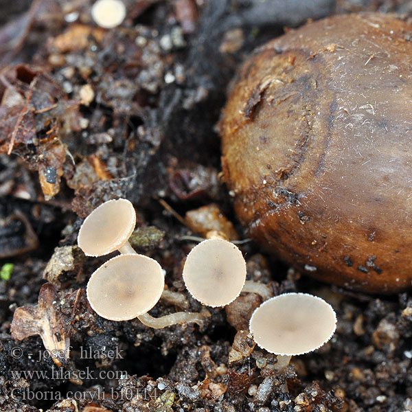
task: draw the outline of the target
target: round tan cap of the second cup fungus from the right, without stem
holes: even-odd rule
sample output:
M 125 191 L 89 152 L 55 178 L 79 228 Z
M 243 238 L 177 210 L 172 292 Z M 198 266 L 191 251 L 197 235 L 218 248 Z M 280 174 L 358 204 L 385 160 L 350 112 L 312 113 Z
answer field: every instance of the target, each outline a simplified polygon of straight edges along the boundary
M 183 280 L 190 294 L 202 304 L 225 306 L 240 295 L 246 280 L 246 262 L 231 242 L 207 239 L 187 255 Z

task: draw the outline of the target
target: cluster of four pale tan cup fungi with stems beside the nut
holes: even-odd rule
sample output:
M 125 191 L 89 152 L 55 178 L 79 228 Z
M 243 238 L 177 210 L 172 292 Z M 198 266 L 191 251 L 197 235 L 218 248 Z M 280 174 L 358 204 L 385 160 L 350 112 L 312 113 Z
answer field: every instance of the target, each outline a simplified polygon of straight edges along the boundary
M 87 299 L 100 317 L 112 321 L 139 319 L 150 328 L 201 323 L 208 311 L 175 312 L 155 318 L 148 314 L 166 293 L 160 264 L 140 255 L 128 238 L 136 224 L 135 209 L 126 199 L 108 201 L 83 222 L 78 245 L 89 256 L 121 254 L 102 264 L 89 279 Z M 262 349 L 277 354 L 277 369 L 290 357 L 312 352 L 336 329 L 336 314 L 323 299 L 306 293 L 270 297 L 267 288 L 246 280 L 247 268 L 235 244 L 218 236 L 198 243 L 187 255 L 183 280 L 194 299 L 214 308 L 230 304 L 240 293 L 258 293 L 264 299 L 253 312 L 249 329 Z

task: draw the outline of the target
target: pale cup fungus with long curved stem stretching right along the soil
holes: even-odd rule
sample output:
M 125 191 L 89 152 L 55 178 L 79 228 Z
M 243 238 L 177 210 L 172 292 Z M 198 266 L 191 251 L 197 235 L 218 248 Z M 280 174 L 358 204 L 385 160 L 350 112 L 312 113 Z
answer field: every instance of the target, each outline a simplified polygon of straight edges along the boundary
M 196 322 L 205 313 L 176 312 L 155 318 L 148 314 L 159 301 L 165 284 L 160 264 L 145 255 L 126 254 L 108 260 L 98 268 L 87 284 L 91 308 L 104 319 L 128 321 L 139 319 L 150 328 Z

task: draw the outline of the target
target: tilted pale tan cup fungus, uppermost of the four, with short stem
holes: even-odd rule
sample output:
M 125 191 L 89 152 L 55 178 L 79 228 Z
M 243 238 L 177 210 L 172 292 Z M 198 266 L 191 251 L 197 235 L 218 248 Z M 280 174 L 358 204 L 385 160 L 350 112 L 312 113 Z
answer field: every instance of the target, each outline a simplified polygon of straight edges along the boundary
M 78 245 L 87 256 L 107 255 L 115 250 L 135 253 L 128 238 L 135 230 L 136 211 L 126 199 L 107 201 L 84 220 Z

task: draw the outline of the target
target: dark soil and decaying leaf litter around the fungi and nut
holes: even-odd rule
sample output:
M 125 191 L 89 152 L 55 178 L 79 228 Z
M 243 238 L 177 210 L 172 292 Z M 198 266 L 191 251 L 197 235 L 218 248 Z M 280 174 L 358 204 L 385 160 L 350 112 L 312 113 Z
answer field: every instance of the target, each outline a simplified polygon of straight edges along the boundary
M 1 409 L 412 410 L 409 293 L 344 293 L 300 277 L 252 242 L 242 244 L 250 279 L 274 295 L 315 293 L 338 314 L 332 341 L 277 375 L 275 355 L 255 347 L 247 331 L 262 303 L 258 295 L 210 309 L 201 327 L 152 330 L 137 320 L 106 321 L 84 292 L 104 259 L 86 259 L 76 244 L 92 209 L 128 198 L 137 209 L 130 243 L 161 262 L 175 293 L 151 313 L 200 311 L 181 277 L 194 244 L 187 236 L 220 230 L 244 238 L 220 183 L 216 134 L 238 64 L 285 26 L 334 12 L 410 13 L 409 2 L 124 3 L 124 23 L 104 30 L 91 21 L 91 1 L 0 1 Z M 23 321 L 10 330 L 17 308 Z M 67 345 L 67 360 L 41 357 L 45 347 Z M 16 347 L 22 356 L 13 356 Z M 117 358 L 106 356 L 116 350 Z M 56 379 L 12 373 L 51 374 L 58 362 L 67 374 Z M 76 378 L 87 368 L 92 378 Z M 128 376 L 98 378 L 100 371 Z M 289 393 L 280 390 L 285 379 Z M 28 391 L 59 392 L 61 399 L 23 400 Z M 67 396 L 76 391 L 86 395 Z M 113 399 L 97 396 L 111 391 Z

